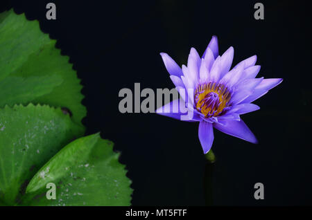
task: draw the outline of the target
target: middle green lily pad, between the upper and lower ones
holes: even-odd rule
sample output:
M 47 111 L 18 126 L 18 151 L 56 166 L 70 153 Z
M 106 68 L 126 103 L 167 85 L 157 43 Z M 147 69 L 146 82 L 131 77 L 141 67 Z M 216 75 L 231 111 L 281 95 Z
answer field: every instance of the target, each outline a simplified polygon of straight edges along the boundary
M 0 110 L 0 201 L 18 204 L 44 163 L 83 129 L 68 113 L 49 106 L 15 105 Z

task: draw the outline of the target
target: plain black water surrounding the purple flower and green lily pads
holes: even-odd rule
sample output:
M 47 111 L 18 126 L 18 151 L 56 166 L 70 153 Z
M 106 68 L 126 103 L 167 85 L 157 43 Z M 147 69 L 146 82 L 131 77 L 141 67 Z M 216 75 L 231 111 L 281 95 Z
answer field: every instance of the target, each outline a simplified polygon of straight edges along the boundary
M 54 2 L 57 19 L 46 19 Z M 132 179 L 133 205 L 312 205 L 311 15 L 305 1 L 3 1 L 38 19 L 58 39 L 82 79 L 87 134 L 114 141 Z M 259 76 L 282 82 L 242 116 L 259 139 L 252 145 L 215 130 L 207 165 L 198 124 L 153 113 L 119 112 L 123 88 L 172 88 L 159 55 L 180 66 L 193 46 L 201 54 L 212 35 L 219 51 L 234 46 L 234 64 L 254 54 Z M 0 67 L 1 71 L 1 67 Z M 254 199 L 254 183 L 265 199 Z M 212 200 L 211 200 L 212 198 Z

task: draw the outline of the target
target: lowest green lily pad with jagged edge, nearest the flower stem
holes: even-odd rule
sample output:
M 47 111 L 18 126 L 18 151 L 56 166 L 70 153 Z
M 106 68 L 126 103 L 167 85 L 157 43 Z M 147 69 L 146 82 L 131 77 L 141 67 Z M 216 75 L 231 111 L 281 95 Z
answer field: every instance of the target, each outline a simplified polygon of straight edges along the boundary
M 99 134 L 74 140 L 53 156 L 26 189 L 27 205 L 130 205 L 131 181 Z M 46 184 L 55 183 L 56 199 L 46 199 Z

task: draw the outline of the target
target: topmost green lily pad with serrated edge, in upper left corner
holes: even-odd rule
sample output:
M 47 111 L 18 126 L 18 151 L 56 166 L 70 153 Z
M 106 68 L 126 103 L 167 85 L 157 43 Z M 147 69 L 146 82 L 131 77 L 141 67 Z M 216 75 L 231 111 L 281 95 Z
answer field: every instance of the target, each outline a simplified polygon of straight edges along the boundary
M 0 107 L 29 102 L 66 107 L 71 111 L 73 121 L 81 125 L 86 109 L 81 104 L 80 80 L 69 64 L 69 57 L 62 56 L 55 48 L 55 40 L 41 32 L 38 21 L 28 21 L 13 10 L 0 15 L 0 67 L 0 82 L 4 80 L 3 84 L 12 81 L 6 77 L 19 79 L 19 83 L 8 85 L 11 91 L 15 91 L 12 97 L 16 99 L 10 97 L 8 103 L 8 100 L 1 100 Z M 45 86 L 39 86 L 39 80 Z M 19 95 L 18 92 L 23 92 L 19 88 L 21 84 L 28 84 L 24 89 L 35 86 L 35 90 Z

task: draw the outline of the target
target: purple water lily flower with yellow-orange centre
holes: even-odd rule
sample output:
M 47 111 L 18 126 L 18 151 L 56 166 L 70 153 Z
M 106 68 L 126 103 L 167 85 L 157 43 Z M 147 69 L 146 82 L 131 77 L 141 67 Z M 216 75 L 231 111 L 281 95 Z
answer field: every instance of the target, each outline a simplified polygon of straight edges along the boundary
M 218 39 L 213 36 L 205 53 L 198 55 L 191 48 L 187 66 L 182 69 L 166 53 L 161 53 L 175 89 L 180 99 L 173 100 L 156 110 L 156 113 L 181 119 L 182 112 L 168 112 L 170 107 L 177 109 L 183 102 L 189 111 L 193 111 L 188 121 L 200 122 L 198 136 L 204 154 L 207 154 L 214 142 L 214 130 L 257 143 L 257 138 L 241 120 L 240 115 L 260 109 L 252 104 L 270 89 L 281 83 L 282 79 L 256 78 L 260 66 L 254 65 L 257 56 L 243 60 L 232 70 L 234 48 L 231 46 L 222 56 L 218 55 Z M 182 93 L 181 91 L 186 91 Z

